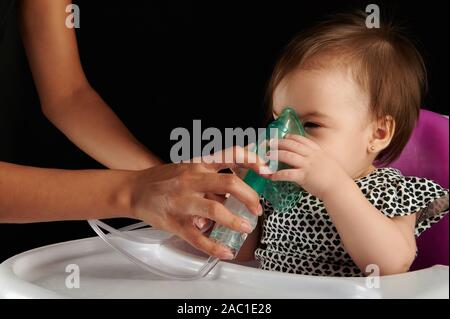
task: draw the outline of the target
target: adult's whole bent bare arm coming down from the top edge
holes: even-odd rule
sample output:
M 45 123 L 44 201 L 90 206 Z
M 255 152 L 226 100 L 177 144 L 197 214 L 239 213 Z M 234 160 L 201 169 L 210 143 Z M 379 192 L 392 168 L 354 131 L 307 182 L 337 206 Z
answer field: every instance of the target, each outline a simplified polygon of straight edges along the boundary
M 109 168 L 144 169 L 159 163 L 91 88 L 73 29 L 64 24 L 70 0 L 22 0 L 23 44 L 41 107 L 72 142 Z

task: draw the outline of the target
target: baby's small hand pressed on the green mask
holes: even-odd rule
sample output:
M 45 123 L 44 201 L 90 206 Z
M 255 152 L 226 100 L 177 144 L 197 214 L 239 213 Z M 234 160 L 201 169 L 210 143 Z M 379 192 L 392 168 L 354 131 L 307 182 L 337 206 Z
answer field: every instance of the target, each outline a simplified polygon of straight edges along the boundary
M 271 179 L 295 182 L 321 200 L 339 187 L 342 178 L 349 178 L 334 159 L 306 137 L 288 134 L 272 141 L 270 147 L 269 159 L 292 167 L 273 173 Z

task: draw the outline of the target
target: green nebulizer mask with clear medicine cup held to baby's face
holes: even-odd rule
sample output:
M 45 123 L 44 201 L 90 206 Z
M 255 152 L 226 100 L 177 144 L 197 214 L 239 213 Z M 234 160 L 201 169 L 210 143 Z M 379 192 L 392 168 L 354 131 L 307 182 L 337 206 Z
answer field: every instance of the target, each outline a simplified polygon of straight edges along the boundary
M 257 146 L 252 151 L 255 151 L 260 156 L 261 154 L 265 155 L 270 149 L 269 141 L 271 139 L 283 139 L 286 134 L 305 136 L 305 131 L 296 112 L 289 107 L 285 108 L 280 116 L 269 124 L 263 135 L 259 137 Z M 262 157 L 264 158 L 264 156 Z M 288 165 L 274 160 L 269 161 L 267 164 L 272 172 L 289 168 Z M 263 196 L 276 211 L 283 211 L 295 205 L 301 199 L 303 192 L 302 188 L 296 183 L 274 182 L 262 177 L 253 170 L 248 171 L 244 182 L 252 187 L 258 195 Z M 232 213 L 247 219 L 253 227 L 256 227 L 257 216 L 250 213 L 247 207 L 236 198 L 230 196 L 224 205 Z M 247 234 L 216 224 L 209 237 L 229 247 L 234 257 L 236 257 Z

